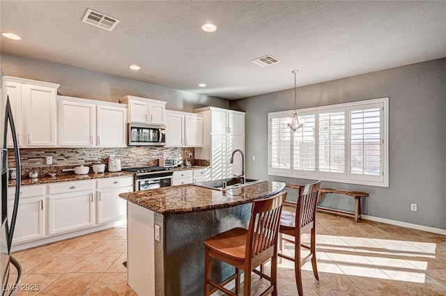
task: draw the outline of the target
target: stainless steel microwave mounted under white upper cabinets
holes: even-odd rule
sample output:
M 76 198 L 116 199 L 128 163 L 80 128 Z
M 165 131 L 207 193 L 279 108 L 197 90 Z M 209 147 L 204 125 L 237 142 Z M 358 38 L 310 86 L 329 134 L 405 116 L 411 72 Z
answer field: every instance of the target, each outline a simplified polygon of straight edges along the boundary
M 166 145 L 165 125 L 128 124 L 128 146 Z

